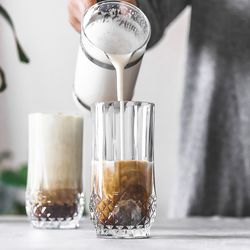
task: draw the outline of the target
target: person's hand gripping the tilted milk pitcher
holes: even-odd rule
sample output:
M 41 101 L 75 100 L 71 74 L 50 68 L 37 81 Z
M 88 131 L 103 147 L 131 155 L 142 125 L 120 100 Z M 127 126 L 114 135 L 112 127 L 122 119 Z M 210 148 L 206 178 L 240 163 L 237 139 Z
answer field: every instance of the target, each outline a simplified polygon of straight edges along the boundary
M 136 5 L 136 0 L 126 0 L 125 2 Z M 68 0 L 69 22 L 77 31 L 81 31 L 81 20 L 85 11 L 96 3 L 96 0 Z

